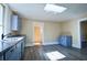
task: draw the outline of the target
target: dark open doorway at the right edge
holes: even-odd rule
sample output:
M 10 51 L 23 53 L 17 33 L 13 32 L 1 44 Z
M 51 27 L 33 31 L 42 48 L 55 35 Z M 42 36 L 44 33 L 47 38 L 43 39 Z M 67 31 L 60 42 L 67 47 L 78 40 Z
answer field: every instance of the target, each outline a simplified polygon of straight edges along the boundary
M 87 47 L 87 20 L 80 22 L 80 43 L 81 48 Z

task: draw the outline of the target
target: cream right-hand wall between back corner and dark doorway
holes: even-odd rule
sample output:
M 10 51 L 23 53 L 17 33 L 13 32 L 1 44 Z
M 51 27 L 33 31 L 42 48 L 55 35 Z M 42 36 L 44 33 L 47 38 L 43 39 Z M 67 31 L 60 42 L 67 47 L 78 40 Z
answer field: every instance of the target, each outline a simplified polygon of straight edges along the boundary
M 79 21 L 72 20 L 68 22 L 62 22 L 62 34 L 72 35 L 73 36 L 73 47 L 80 48 L 80 34 L 79 34 Z

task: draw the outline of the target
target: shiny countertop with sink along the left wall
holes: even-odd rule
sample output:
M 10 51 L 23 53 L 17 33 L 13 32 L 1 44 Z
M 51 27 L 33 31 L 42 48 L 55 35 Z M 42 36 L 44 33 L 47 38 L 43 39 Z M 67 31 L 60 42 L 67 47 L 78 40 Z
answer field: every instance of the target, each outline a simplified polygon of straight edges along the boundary
M 18 37 L 7 37 L 6 40 L 0 41 L 0 55 L 15 45 L 19 41 L 23 40 L 24 36 Z

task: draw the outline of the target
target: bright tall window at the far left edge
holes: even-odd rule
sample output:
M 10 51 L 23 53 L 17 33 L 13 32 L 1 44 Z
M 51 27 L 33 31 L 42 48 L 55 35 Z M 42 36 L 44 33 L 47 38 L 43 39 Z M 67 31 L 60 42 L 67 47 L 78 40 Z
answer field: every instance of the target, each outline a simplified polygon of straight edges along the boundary
M 3 33 L 3 6 L 0 4 L 0 40 L 2 33 Z

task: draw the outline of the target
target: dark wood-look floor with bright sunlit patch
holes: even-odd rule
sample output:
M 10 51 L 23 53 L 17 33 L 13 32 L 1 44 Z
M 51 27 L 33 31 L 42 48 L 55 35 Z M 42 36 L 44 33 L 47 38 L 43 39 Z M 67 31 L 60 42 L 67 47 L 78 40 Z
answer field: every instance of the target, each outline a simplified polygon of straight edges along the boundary
M 87 48 L 78 50 L 57 44 L 25 47 L 23 61 L 87 61 Z

